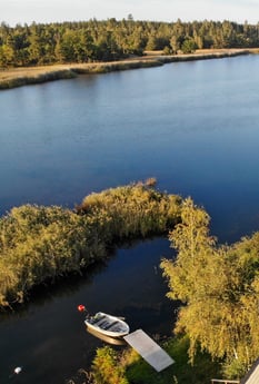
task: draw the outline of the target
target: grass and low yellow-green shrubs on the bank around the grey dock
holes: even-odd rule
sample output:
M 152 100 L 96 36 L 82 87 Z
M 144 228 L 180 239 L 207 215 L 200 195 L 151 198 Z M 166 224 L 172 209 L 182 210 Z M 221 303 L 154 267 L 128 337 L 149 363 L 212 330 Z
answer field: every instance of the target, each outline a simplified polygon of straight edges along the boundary
M 220 364 L 205 353 L 197 353 L 193 365 L 188 360 L 188 337 L 158 341 L 175 364 L 157 373 L 132 348 L 114 351 L 110 346 L 98 348 L 90 372 L 79 370 L 71 384 L 207 384 L 221 377 Z

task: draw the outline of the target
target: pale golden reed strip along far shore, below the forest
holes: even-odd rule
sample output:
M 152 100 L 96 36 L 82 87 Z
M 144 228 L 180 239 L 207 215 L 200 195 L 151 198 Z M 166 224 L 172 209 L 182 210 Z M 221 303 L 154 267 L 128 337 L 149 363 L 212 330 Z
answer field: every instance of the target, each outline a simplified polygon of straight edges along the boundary
M 0 90 L 42 83 L 61 79 L 71 79 L 78 75 L 107 73 L 135 68 L 163 66 L 169 62 L 220 59 L 240 55 L 259 53 L 259 49 L 217 49 L 197 50 L 190 55 L 163 56 L 162 52 L 147 52 L 147 56 L 127 60 L 91 63 L 53 65 L 22 67 L 0 70 Z

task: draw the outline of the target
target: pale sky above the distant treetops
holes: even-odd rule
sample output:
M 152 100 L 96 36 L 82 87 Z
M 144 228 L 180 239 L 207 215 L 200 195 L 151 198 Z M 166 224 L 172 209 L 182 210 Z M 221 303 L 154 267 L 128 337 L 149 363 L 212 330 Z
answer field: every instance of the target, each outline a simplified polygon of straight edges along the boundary
M 259 21 L 259 0 L 0 0 L 0 22 L 79 21 L 96 18 L 152 21 Z

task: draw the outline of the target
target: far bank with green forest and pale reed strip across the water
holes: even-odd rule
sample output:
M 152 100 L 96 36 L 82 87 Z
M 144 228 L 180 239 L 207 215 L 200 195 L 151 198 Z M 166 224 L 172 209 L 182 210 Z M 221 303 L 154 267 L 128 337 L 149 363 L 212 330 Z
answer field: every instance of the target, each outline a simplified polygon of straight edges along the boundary
M 0 26 L 0 89 L 257 51 L 258 26 L 223 21 L 89 20 Z M 159 55 L 150 56 L 156 51 Z

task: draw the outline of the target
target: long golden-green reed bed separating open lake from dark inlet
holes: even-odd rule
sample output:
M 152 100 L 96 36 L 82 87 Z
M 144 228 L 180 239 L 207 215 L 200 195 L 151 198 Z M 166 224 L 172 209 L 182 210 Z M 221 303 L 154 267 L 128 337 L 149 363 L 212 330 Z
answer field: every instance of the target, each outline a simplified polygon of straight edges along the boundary
M 74 211 L 12 208 L 0 219 L 0 306 L 103 259 L 117 242 L 167 232 L 179 220 L 181 199 L 155 190 L 150 181 L 92 194 Z

